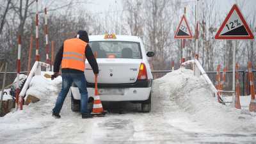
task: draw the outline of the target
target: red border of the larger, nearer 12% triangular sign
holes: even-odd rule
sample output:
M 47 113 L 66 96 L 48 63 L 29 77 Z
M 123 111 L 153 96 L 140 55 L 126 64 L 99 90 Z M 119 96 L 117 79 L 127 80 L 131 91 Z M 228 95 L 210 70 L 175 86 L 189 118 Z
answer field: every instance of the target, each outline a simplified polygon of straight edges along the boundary
M 248 36 L 220 36 L 221 31 L 223 30 L 223 28 L 225 27 L 225 24 L 227 23 L 228 19 L 231 17 L 232 13 L 234 13 L 234 11 L 236 10 L 237 14 L 239 15 L 240 19 L 242 20 L 244 27 L 246 29 L 246 31 L 248 32 Z M 215 35 L 215 39 L 223 39 L 223 40 L 246 40 L 246 39 L 254 39 L 254 36 L 252 34 L 251 29 L 249 28 L 246 20 L 244 20 L 244 17 L 242 15 L 242 13 L 240 12 L 237 4 L 234 4 L 234 6 L 232 6 L 230 12 L 228 13 L 226 19 L 224 20 L 224 22 L 221 24 L 220 29 L 218 30 L 218 32 Z

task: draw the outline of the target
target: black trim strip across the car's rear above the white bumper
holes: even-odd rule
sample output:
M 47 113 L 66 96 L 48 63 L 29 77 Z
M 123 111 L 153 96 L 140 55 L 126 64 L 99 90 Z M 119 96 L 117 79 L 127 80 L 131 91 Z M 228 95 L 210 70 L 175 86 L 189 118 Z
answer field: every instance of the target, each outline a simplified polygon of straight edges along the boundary
M 73 87 L 77 87 L 72 83 Z M 94 83 L 86 83 L 87 88 L 95 88 Z M 135 83 L 121 83 L 121 84 L 102 84 L 98 83 L 98 88 L 149 88 L 152 86 L 152 79 L 137 80 Z

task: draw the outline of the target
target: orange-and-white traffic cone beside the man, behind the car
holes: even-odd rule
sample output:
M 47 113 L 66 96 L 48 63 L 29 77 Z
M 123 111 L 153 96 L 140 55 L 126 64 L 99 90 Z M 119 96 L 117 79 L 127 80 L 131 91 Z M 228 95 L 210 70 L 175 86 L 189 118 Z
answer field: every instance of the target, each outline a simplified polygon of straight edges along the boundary
M 97 75 L 95 75 L 95 95 L 94 95 L 93 109 L 91 114 L 95 116 L 104 116 L 106 113 L 108 113 L 108 111 L 104 111 L 102 107 L 102 103 L 98 93 Z

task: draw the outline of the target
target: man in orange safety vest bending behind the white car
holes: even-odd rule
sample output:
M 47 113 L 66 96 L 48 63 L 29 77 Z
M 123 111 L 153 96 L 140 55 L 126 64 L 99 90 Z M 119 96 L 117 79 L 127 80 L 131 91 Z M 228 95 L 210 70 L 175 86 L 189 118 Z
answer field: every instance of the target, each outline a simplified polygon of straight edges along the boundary
M 61 118 L 60 111 L 72 83 L 76 84 L 81 93 L 80 111 L 82 118 L 92 118 L 87 109 L 88 92 L 84 77 L 85 58 L 90 63 L 94 74 L 97 75 L 99 73 L 99 67 L 88 43 L 89 37 L 87 32 L 78 31 L 76 38 L 65 40 L 56 54 L 52 79 L 58 76 L 61 65 L 62 87 L 55 107 L 52 109 L 52 116 L 55 118 Z

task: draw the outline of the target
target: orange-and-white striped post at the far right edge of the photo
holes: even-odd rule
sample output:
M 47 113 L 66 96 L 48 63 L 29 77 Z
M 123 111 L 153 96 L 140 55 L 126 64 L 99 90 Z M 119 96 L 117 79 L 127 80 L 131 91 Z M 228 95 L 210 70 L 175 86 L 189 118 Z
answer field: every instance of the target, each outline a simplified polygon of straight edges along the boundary
M 253 74 L 252 74 L 252 62 L 251 61 L 249 61 L 249 63 L 248 63 L 248 74 L 249 74 L 250 92 L 251 92 L 251 102 L 250 102 L 249 110 L 256 111 L 255 89 L 254 89 Z

